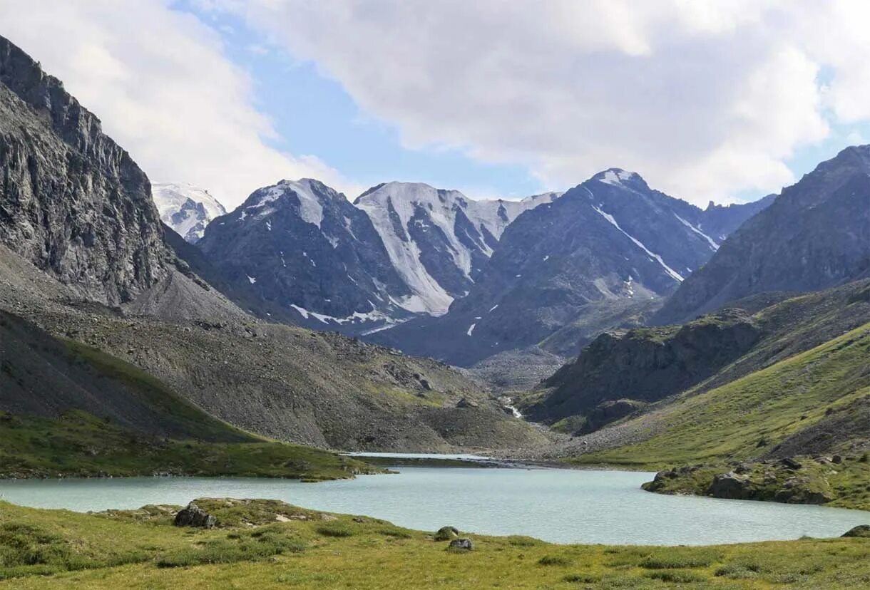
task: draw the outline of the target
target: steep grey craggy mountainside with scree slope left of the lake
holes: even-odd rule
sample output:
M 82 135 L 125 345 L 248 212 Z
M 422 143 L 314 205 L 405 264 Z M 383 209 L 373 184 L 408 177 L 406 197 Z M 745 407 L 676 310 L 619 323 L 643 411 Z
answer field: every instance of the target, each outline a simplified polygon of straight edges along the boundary
M 0 411 L 87 411 L 197 440 L 225 421 L 246 440 L 345 449 L 542 440 L 442 363 L 239 308 L 203 251 L 161 222 L 148 177 L 97 117 L 3 37 L 0 178 Z M 173 419 L 183 407 L 197 412 Z

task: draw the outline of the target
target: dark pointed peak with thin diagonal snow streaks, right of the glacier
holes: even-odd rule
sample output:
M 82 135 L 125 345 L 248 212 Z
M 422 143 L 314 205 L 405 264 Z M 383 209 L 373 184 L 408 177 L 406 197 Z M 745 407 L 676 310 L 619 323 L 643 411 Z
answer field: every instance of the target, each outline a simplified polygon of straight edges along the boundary
M 761 206 L 704 211 L 650 189 L 637 174 L 606 170 L 519 215 L 446 315 L 371 338 L 465 367 L 542 342 L 576 355 L 604 329 L 641 324 L 713 255 L 719 238 L 702 229 L 708 218 L 722 217 L 725 231 Z

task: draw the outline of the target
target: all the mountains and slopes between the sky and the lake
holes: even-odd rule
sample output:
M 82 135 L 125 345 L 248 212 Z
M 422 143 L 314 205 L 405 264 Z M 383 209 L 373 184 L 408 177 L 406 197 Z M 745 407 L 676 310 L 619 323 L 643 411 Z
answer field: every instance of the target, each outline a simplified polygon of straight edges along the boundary
M 870 452 L 870 146 L 729 207 L 613 168 L 520 202 L 282 180 L 222 214 L 152 190 L 0 37 L 0 181 L 3 428 L 708 462 L 653 487 L 716 492 L 729 469 L 738 497 L 870 501 L 866 477 L 793 474 L 795 456 L 858 473 Z

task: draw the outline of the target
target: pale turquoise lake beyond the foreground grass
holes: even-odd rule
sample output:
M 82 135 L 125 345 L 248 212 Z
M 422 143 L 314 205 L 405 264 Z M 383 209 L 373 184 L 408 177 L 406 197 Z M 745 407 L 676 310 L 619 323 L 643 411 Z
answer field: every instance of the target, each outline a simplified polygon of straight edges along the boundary
M 870 513 L 770 502 L 650 494 L 653 474 L 568 469 L 399 467 L 395 475 L 301 483 L 231 478 L 0 481 L 0 498 L 77 511 L 185 504 L 201 496 L 270 498 L 368 514 L 403 527 L 445 525 L 558 543 L 706 545 L 838 536 Z

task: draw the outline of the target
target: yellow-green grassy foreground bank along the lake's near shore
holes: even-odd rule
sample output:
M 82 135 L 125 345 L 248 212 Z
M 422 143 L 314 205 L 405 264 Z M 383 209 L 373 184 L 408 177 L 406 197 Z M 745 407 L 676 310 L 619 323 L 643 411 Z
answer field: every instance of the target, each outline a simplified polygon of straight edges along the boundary
M 0 588 L 849 588 L 870 582 L 870 539 L 718 547 L 558 546 L 432 534 L 278 501 L 203 500 L 218 527 L 173 527 L 177 507 L 108 514 L 0 503 Z M 2 580 L 2 579 L 5 580 Z

